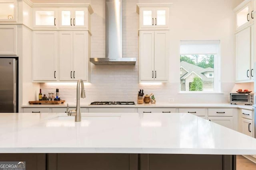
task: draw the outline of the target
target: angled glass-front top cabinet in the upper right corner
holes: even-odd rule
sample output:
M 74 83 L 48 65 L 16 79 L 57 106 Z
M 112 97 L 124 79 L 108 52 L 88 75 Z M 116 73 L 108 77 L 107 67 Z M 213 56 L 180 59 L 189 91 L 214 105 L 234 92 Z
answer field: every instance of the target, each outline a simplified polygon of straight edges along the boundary
M 238 5 L 234 11 L 236 12 L 236 31 L 250 25 L 254 22 L 254 1 L 245 0 Z

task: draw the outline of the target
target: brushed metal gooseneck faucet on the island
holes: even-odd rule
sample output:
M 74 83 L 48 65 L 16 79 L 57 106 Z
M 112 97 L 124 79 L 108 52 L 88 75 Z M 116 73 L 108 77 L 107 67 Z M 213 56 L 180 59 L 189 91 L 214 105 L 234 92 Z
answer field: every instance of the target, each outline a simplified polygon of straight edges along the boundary
M 81 98 L 85 98 L 85 92 L 84 92 L 84 82 L 82 79 L 79 79 L 77 81 L 77 86 L 76 86 L 76 110 L 70 110 L 68 111 L 68 104 L 67 104 L 67 114 L 69 116 L 73 115 L 75 116 L 75 121 L 81 121 L 81 108 L 80 108 L 80 84 L 82 86 L 82 92 L 81 92 Z

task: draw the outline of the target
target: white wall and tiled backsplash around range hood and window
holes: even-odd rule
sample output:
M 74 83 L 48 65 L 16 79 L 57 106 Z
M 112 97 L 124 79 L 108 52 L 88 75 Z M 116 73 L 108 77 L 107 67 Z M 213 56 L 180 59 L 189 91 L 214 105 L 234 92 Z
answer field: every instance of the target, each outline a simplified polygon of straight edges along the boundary
M 34 0 L 33 2 L 38 2 Z M 52 2 L 52 1 L 51 1 Z M 54 1 L 55 2 L 55 1 Z M 59 1 L 58 1 L 59 2 Z M 64 2 L 64 1 L 63 1 Z M 69 1 L 70 2 L 70 1 Z M 104 0 L 92 0 L 92 57 L 105 57 Z M 138 83 L 138 20 L 137 3 L 172 2 L 170 8 L 170 82 L 161 85 Z M 233 9 L 241 0 L 123 0 L 123 56 L 136 57 L 135 66 L 92 65 L 92 80 L 86 85 L 86 98 L 93 101 L 137 101 L 139 89 L 153 93 L 156 102 L 228 102 L 234 92 L 235 81 L 235 14 Z M 220 40 L 220 94 L 180 94 L 180 40 Z M 60 88 L 60 96 L 67 102 L 76 98 L 76 84 L 40 84 L 43 94 Z

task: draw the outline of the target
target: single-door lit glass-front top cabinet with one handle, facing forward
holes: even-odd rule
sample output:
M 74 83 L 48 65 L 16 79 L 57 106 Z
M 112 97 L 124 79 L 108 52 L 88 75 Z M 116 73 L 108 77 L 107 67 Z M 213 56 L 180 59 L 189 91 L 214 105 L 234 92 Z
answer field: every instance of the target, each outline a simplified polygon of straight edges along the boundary
M 34 8 L 34 27 L 54 27 L 57 28 L 57 9 L 55 8 Z

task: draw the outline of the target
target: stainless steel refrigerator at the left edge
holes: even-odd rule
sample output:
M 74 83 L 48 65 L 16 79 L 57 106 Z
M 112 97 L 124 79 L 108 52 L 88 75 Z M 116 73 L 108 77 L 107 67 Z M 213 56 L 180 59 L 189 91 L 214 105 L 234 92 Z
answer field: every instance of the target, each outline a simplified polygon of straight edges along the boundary
M 18 112 L 18 57 L 0 57 L 0 113 Z

